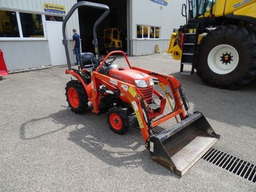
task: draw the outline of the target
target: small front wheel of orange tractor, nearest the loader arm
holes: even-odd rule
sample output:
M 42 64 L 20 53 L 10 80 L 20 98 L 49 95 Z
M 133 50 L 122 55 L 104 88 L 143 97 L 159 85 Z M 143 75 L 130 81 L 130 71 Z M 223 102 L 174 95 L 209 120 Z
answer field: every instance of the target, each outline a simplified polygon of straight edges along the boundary
M 116 118 L 116 123 L 113 123 L 113 116 L 118 116 Z M 107 122 L 110 129 L 115 133 L 124 134 L 128 131 L 129 117 L 126 114 L 126 111 L 119 107 L 111 107 L 108 109 Z

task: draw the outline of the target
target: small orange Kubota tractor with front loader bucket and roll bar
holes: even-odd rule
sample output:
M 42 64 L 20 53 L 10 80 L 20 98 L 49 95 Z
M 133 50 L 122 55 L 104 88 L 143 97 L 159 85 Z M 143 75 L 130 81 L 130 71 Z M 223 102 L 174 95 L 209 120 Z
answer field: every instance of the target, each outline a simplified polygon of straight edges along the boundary
M 96 58 L 92 53 L 82 53 L 81 70 L 77 70 L 71 68 L 65 27 L 72 13 L 81 6 L 104 9 L 105 12 L 93 27 Z M 181 84 L 173 76 L 132 67 L 122 51 L 110 52 L 103 61 L 99 61 L 96 29 L 108 13 L 107 5 L 83 1 L 76 3 L 63 21 L 63 44 L 68 61 L 66 74 L 77 79 L 67 83 L 68 105 L 75 113 L 83 113 L 90 101 L 92 112 L 100 114 L 99 104 L 108 103 L 108 124 L 111 130 L 119 134 L 127 132 L 128 115 L 134 113 L 145 146 L 153 158 L 182 176 L 219 140 L 220 135 L 213 131 L 202 113 L 188 113 Z M 129 68 L 114 64 L 116 58 L 111 55 L 115 53 L 124 55 Z M 156 91 L 154 84 L 163 88 L 166 98 Z M 170 88 L 170 92 L 166 87 Z M 160 100 L 160 105 L 155 102 L 153 95 Z M 171 99 L 175 102 L 174 106 Z M 166 100 L 172 111 L 164 114 Z M 158 126 L 171 118 L 176 118 L 177 124 L 167 129 Z

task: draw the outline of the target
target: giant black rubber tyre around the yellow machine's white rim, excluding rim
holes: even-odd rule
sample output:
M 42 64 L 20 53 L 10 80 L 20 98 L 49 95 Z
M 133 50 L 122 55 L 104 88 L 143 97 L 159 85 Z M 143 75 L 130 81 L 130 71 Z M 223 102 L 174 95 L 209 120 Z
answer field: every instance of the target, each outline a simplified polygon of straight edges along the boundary
M 217 74 L 208 65 L 208 55 L 220 44 L 233 46 L 238 52 L 236 68 L 227 74 Z M 196 73 L 203 82 L 219 88 L 236 89 L 256 77 L 256 33 L 243 26 L 227 25 L 205 36 L 198 48 Z M 225 63 L 224 63 L 225 64 Z

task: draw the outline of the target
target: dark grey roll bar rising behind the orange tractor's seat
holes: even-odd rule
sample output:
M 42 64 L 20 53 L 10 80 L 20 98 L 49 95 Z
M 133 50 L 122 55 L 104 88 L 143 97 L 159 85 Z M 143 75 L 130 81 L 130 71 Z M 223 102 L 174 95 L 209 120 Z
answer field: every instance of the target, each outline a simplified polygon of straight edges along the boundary
M 98 39 L 97 39 L 97 27 L 100 24 L 100 22 L 107 17 L 109 13 L 109 8 L 107 5 L 104 4 L 98 4 L 98 3 L 91 3 L 87 1 L 81 1 L 76 4 L 74 4 L 71 9 L 69 10 L 68 14 L 66 15 L 65 19 L 63 20 L 62 23 L 62 34 L 63 34 L 63 40 L 62 44 L 65 46 L 65 52 L 66 52 L 66 57 L 67 57 L 67 62 L 68 62 L 68 70 L 71 70 L 71 63 L 70 63 L 70 58 L 69 58 L 69 53 L 68 53 L 68 39 L 66 36 L 66 24 L 71 17 L 71 15 L 75 12 L 75 10 L 79 7 L 94 7 L 94 8 L 99 8 L 99 9 L 105 9 L 106 11 L 99 17 L 98 20 L 94 23 L 93 26 L 93 44 L 95 47 L 95 54 L 96 54 L 96 59 L 99 62 L 100 54 L 99 54 L 99 48 L 98 48 Z

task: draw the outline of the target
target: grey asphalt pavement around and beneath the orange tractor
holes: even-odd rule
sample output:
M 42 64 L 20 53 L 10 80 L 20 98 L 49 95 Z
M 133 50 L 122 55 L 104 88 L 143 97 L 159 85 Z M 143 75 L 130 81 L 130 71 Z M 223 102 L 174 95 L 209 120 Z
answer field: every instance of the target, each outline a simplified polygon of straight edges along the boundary
M 165 53 L 129 57 L 132 65 L 175 76 L 190 111 L 221 135 L 214 148 L 256 164 L 256 81 L 238 90 L 179 74 Z M 125 66 L 118 57 L 115 63 Z M 200 159 L 183 177 L 152 160 L 140 131 L 110 131 L 106 114 L 68 108 L 66 66 L 0 81 L 0 191 L 256 191 L 256 184 Z

